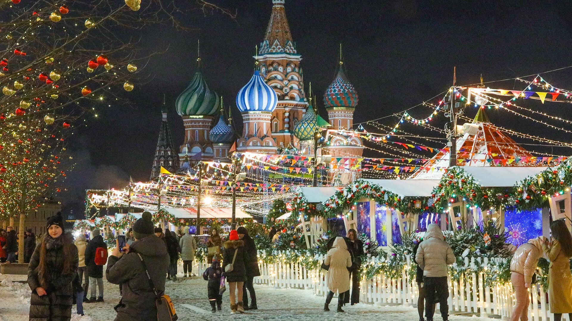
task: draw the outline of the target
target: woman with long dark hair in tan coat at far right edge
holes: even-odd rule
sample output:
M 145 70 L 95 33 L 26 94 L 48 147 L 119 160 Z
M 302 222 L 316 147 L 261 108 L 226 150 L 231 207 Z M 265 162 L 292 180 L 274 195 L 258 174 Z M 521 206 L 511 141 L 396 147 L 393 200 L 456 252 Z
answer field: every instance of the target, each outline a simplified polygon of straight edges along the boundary
M 548 272 L 550 312 L 554 314 L 554 321 L 560 321 L 563 313 L 567 313 L 572 320 L 572 235 L 566 223 L 560 219 L 550 224 L 550 231 L 551 242 L 542 244 L 551 263 Z

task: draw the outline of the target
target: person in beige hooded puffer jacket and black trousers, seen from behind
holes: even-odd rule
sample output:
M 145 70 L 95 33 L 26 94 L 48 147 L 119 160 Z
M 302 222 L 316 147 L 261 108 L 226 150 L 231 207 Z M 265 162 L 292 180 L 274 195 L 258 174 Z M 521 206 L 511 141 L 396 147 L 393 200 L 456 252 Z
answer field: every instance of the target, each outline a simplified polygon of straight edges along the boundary
M 455 255 L 451 246 L 443 240 L 443 232 L 437 224 L 429 224 L 423 242 L 419 244 L 415 261 L 423 270 L 423 283 L 427 296 L 425 298 L 425 317 L 433 320 L 435 294 L 439 298 L 439 308 L 443 321 L 448 320 L 449 307 L 447 298 L 447 266 L 455 263 Z M 436 293 L 435 293 L 436 292 Z

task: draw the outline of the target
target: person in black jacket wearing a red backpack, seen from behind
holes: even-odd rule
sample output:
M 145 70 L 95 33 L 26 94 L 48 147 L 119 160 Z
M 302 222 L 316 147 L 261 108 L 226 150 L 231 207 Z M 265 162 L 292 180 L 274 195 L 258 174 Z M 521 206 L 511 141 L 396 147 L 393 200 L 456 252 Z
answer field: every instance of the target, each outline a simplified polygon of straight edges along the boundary
M 86 273 L 89 276 L 89 288 L 91 293 L 91 297 L 86 303 L 104 302 L 104 266 L 97 265 L 95 260 L 98 247 L 103 247 L 107 251 L 107 244 L 104 242 L 104 238 L 100 233 L 100 230 L 97 228 L 93 230 L 92 240 L 89 241 L 88 246 L 85 248 L 85 267 Z M 97 300 L 96 286 L 100 289 Z

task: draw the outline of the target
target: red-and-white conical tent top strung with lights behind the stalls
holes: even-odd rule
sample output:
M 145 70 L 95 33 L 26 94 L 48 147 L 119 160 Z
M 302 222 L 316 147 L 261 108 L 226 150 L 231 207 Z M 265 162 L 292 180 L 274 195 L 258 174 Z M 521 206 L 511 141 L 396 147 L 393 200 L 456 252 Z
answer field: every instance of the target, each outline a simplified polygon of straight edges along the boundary
M 463 136 L 457 139 L 456 147 L 458 166 L 519 166 L 519 158 L 533 156 L 494 126 L 483 108 L 479 108 L 471 123 L 463 125 Z M 439 179 L 449 167 L 450 158 L 449 148 L 445 147 L 411 178 Z

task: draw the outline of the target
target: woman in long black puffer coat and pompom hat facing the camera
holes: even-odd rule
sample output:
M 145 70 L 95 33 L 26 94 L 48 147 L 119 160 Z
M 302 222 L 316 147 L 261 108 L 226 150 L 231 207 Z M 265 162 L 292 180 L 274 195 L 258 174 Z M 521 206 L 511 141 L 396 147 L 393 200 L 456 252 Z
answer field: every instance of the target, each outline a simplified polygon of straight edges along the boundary
M 28 264 L 28 285 L 32 290 L 30 321 L 69 321 L 74 296 L 72 283 L 77 274 L 77 247 L 72 235 L 64 234 L 59 212 L 47 219 L 46 226 L 47 234 Z

